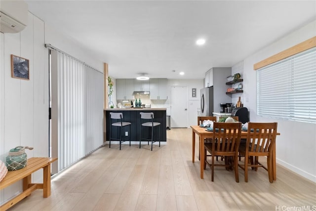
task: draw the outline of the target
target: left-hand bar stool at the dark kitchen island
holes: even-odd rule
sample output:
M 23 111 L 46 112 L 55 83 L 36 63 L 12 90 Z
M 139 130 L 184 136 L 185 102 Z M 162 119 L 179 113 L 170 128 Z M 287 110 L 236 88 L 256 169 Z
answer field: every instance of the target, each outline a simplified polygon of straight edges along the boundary
M 112 121 L 114 120 L 114 123 L 112 123 Z M 109 148 L 111 148 L 111 139 L 112 140 L 119 140 L 119 150 L 120 150 L 120 146 L 121 146 L 121 143 L 124 142 L 124 141 L 128 141 L 128 140 L 125 140 L 123 139 L 122 140 L 122 136 L 124 137 L 123 135 L 123 128 L 125 126 L 129 126 L 129 133 L 131 132 L 130 130 L 130 126 L 131 126 L 131 123 L 129 122 L 123 122 L 123 113 L 114 113 L 114 112 L 110 112 L 110 124 L 111 124 L 111 127 L 110 127 L 110 146 Z M 112 127 L 119 127 L 119 138 L 112 138 L 111 137 L 111 133 L 112 133 Z M 129 134 L 129 146 L 130 146 L 130 134 Z

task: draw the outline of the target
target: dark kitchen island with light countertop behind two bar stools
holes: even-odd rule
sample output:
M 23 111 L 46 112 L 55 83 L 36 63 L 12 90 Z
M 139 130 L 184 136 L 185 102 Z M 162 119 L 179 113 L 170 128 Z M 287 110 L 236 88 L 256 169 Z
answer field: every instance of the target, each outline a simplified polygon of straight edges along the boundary
M 128 135 L 131 134 L 131 141 L 137 141 L 139 144 L 139 133 L 140 133 L 140 112 L 153 112 L 154 113 L 154 122 L 160 123 L 160 141 L 166 141 L 166 108 L 109 108 L 104 109 L 104 116 L 106 118 L 106 141 L 110 140 L 110 112 L 123 113 L 123 122 L 131 123 L 131 131 L 129 127 L 124 128 L 128 132 Z M 119 127 L 112 128 L 112 137 L 119 137 Z M 142 137 L 149 137 L 151 134 L 151 128 L 143 127 Z M 158 128 L 155 127 L 154 130 L 154 140 L 157 140 L 159 137 Z M 111 141 L 112 143 L 112 141 Z M 129 142 L 125 142 L 129 143 Z M 145 144 L 145 141 L 142 141 L 142 144 Z

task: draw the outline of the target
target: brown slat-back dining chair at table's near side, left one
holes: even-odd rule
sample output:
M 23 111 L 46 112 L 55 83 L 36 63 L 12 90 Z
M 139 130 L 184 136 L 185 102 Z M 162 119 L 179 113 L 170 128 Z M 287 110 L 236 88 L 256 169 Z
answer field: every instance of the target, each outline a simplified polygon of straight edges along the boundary
M 204 153 L 209 152 L 212 155 L 211 163 L 204 158 L 204 169 L 206 165 L 211 168 L 212 178 L 214 181 L 214 167 L 222 166 L 226 169 L 233 168 L 235 170 L 236 182 L 239 182 L 238 176 L 238 147 L 240 143 L 241 123 L 214 123 L 213 138 L 210 143 L 204 144 Z M 222 156 L 225 159 L 224 164 L 215 164 L 215 156 Z

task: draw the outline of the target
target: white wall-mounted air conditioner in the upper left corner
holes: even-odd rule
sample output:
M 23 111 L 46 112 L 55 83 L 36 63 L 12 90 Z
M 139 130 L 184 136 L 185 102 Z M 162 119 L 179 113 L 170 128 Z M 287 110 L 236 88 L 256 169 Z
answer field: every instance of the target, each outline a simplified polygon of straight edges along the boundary
M 28 23 L 28 4 L 23 0 L 1 0 L 0 32 L 21 32 Z

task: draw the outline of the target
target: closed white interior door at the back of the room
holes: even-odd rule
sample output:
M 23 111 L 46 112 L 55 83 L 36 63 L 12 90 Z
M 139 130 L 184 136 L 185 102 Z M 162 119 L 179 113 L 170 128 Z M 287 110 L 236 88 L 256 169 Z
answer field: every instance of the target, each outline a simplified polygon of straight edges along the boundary
M 188 127 L 188 87 L 171 86 L 170 95 L 171 128 Z

